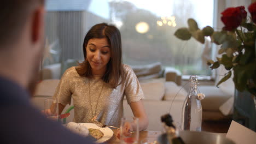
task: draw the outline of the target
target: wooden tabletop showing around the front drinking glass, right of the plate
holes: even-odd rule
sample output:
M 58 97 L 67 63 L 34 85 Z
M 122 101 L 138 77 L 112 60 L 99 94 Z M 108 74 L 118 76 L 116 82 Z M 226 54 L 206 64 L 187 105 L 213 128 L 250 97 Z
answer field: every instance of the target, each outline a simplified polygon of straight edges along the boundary
M 113 131 L 114 131 L 113 136 L 108 141 L 106 141 L 106 143 L 108 143 L 108 144 L 120 143 L 120 140 L 116 136 L 117 130 L 113 130 Z M 161 131 L 147 131 L 147 130 L 139 131 L 138 143 L 141 143 L 141 140 L 146 139 L 146 138 L 157 140 L 158 136 L 161 135 L 161 134 L 162 134 Z

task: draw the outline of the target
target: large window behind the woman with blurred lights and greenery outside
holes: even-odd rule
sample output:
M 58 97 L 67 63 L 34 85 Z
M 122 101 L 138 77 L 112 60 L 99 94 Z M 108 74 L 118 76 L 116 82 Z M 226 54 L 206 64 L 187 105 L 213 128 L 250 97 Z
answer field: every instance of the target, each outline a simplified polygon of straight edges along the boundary
M 187 27 L 193 17 L 200 28 L 213 23 L 214 0 L 55 0 L 46 2 L 45 67 L 83 61 L 83 38 L 96 23 L 116 25 L 122 35 L 123 61 L 129 65 L 161 62 L 175 67 L 183 75 L 208 75 L 211 70 L 202 61 L 205 45 L 194 39 L 182 41 L 174 36 Z M 211 58 L 211 50 L 205 50 Z M 46 66 L 48 65 L 48 66 Z

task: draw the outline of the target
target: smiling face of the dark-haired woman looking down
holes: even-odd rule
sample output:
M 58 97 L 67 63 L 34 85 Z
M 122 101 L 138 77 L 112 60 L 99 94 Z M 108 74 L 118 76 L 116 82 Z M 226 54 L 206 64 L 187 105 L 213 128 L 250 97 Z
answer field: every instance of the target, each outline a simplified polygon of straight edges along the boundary
M 110 59 L 110 45 L 106 38 L 90 39 L 86 46 L 86 57 L 93 75 L 103 75 Z

